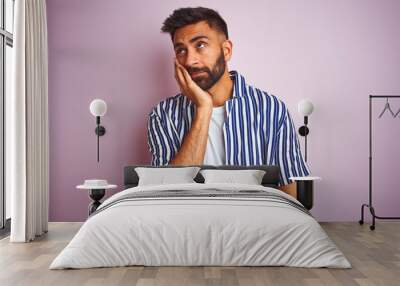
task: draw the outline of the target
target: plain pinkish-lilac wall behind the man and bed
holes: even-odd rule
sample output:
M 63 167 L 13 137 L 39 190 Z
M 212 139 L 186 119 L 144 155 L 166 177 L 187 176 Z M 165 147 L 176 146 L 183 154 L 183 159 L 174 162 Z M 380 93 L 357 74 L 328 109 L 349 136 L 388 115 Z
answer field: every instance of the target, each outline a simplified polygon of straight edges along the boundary
M 121 186 L 123 166 L 149 162 L 147 114 L 178 91 L 170 38 L 160 27 L 173 9 L 198 5 L 227 21 L 230 69 L 286 102 L 297 126 L 297 102 L 314 102 L 309 161 L 323 180 L 312 212 L 320 221 L 359 219 L 368 192 L 368 94 L 400 94 L 400 2 L 251 3 L 47 1 L 51 221 L 85 220 L 90 200 L 75 189 L 85 178 Z M 89 113 L 94 98 L 109 107 L 100 163 Z M 397 110 L 400 100 L 392 105 Z M 378 102 L 375 117 L 381 108 Z M 375 121 L 376 208 L 400 215 L 400 117 Z

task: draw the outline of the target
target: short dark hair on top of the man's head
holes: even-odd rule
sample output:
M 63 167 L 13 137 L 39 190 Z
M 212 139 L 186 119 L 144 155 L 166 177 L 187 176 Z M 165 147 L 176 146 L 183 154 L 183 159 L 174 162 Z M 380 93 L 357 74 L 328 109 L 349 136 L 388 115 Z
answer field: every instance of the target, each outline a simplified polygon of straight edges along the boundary
M 174 12 L 165 19 L 161 31 L 169 33 L 171 39 L 174 39 L 177 29 L 200 21 L 206 21 L 211 28 L 223 33 L 228 39 L 228 27 L 224 19 L 222 19 L 217 11 L 204 7 L 180 8 L 174 10 Z

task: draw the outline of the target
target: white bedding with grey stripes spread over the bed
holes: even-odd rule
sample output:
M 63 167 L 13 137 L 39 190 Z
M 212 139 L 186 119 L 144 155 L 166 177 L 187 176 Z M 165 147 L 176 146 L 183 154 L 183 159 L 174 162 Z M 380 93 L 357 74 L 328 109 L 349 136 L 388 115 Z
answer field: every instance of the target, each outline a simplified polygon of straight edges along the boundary
M 350 268 L 315 219 L 290 204 L 246 197 L 122 200 L 136 192 L 261 190 L 239 184 L 141 186 L 108 198 L 54 259 L 50 269 L 127 265 Z M 102 210 L 103 209 L 103 210 Z

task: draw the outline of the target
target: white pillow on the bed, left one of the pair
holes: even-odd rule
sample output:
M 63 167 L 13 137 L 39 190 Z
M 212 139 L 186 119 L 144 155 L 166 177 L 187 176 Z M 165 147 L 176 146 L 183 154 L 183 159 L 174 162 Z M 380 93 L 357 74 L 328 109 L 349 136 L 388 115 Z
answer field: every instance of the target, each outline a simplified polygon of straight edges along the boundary
M 139 176 L 138 186 L 195 183 L 199 167 L 135 168 Z

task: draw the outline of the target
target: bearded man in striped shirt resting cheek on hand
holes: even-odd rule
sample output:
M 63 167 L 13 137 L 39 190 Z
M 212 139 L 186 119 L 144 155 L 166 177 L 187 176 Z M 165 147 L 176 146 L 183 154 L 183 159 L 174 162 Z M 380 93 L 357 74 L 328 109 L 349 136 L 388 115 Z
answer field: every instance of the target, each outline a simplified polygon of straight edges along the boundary
M 149 114 L 152 165 L 278 165 L 281 190 L 309 175 L 285 104 L 228 71 L 232 42 L 214 10 L 175 10 L 161 29 L 171 35 L 181 93 Z

